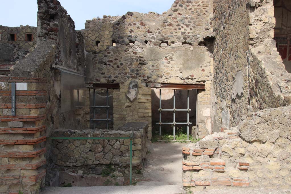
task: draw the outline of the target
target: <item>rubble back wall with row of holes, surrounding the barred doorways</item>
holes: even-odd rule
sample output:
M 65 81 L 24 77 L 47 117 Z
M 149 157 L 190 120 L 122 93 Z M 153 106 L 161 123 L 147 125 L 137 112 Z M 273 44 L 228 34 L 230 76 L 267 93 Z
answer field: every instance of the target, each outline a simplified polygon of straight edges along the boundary
M 212 42 L 204 38 L 213 35 L 212 22 L 211 1 L 180 0 L 161 15 L 128 12 L 86 21 L 88 82 L 120 83 L 113 91 L 115 129 L 129 121 L 151 123 L 147 82 L 205 83 L 198 94 L 197 121 L 200 137 L 211 133 Z M 138 83 L 134 102 L 126 98 L 131 81 Z

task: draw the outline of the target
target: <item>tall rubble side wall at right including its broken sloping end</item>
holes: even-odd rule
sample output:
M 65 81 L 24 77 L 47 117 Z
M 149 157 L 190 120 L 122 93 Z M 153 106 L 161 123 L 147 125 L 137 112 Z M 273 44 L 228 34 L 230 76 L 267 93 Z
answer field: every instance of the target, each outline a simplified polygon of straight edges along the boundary
M 248 112 L 290 104 L 274 26 L 272 0 L 214 1 L 214 131 L 236 126 Z

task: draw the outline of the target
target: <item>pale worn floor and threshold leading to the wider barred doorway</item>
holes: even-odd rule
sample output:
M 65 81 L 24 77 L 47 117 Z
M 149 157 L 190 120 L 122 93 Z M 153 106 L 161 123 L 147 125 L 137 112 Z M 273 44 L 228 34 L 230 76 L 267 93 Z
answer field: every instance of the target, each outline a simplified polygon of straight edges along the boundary
M 41 194 L 180 194 L 182 147 L 187 143 L 148 142 L 144 172 L 133 172 L 135 186 L 46 187 Z

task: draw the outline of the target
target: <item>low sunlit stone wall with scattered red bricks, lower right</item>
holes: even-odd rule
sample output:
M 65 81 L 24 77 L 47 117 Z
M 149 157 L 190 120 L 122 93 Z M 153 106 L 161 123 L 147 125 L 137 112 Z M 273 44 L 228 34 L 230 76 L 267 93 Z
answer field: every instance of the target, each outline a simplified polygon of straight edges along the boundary
M 288 189 L 290 148 L 291 106 L 250 113 L 237 127 L 183 147 L 183 186 Z

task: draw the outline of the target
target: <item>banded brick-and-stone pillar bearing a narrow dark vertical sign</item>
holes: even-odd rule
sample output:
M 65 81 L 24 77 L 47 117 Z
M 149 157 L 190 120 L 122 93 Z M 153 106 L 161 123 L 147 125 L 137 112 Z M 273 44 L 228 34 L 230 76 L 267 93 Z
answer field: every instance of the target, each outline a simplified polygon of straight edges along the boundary
M 16 116 L 11 113 L 11 83 Z M 20 84 L 22 83 L 22 84 Z M 39 78 L 0 77 L 0 193 L 38 193 L 45 179 L 47 93 Z M 19 87 L 21 86 L 21 87 Z

